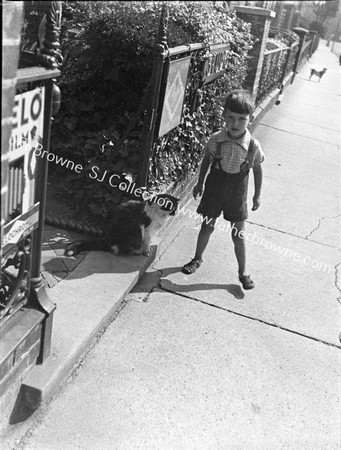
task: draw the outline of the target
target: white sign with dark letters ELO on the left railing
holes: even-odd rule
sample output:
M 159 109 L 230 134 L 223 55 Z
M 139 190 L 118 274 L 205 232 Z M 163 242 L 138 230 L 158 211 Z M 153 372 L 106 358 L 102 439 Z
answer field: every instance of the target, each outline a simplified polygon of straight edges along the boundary
M 23 176 L 19 174 L 21 180 L 22 193 L 22 213 L 29 210 L 34 204 L 34 186 L 36 177 L 36 157 L 33 155 L 34 149 L 42 143 L 44 127 L 44 104 L 45 88 L 36 88 L 32 91 L 18 94 L 14 98 L 13 128 L 9 140 L 9 178 L 15 178 L 15 168 L 22 166 Z M 22 159 L 22 164 L 20 160 Z M 19 170 L 19 169 L 18 169 Z M 11 173 L 11 171 L 13 173 Z M 9 186 L 9 197 L 13 194 L 13 189 L 18 190 L 15 182 Z M 19 183 L 19 181 L 18 181 Z M 11 203 L 11 202 L 10 202 Z M 20 199 L 21 203 L 21 199 Z M 13 203 L 14 204 L 14 203 Z M 9 211 L 11 214 L 12 211 Z

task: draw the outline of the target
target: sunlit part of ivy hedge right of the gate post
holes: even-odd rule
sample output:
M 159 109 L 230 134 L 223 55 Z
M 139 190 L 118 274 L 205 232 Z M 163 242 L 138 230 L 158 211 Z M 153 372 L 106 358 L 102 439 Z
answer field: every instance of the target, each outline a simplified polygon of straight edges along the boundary
M 208 50 L 192 55 L 182 121 L 177 128 L 158 139 L 153 148 L 149 183 L 155 190 L 167 188 L 171 183 L 181 182 L 195 174 L 207 137 L 224 125 L 222 112 L 226 93 L 243 87 L 252 44 L 249 26 L 234 14 L 227 15 L 223 9 L 212 8 L 207 5 L 209 2 L 180 3 L 181 8 L 170 13 L 171 22 L 181 24 L 181 29 L 191 30 L 192 41 L 189 42 L 229 42 L 229 65 L 225 75 L 202 86 L 197 80 Z M 193 111 L 195 95 L 200 100 Z

